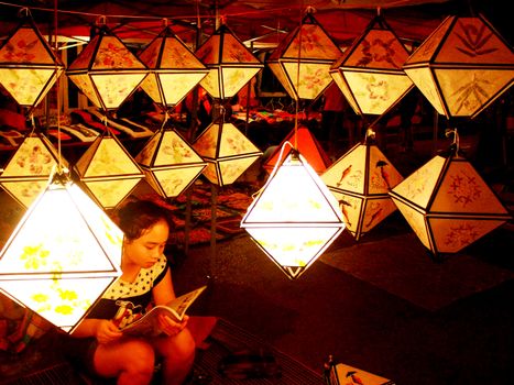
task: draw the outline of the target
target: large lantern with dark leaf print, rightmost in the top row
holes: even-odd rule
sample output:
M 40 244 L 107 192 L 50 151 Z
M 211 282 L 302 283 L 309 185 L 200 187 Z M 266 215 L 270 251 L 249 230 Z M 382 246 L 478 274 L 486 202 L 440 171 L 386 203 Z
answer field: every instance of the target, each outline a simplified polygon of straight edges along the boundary
M 448 16 L 403 68 L 438 113 L 474 118 L 512 86 L 514 53 L 483 16 Z

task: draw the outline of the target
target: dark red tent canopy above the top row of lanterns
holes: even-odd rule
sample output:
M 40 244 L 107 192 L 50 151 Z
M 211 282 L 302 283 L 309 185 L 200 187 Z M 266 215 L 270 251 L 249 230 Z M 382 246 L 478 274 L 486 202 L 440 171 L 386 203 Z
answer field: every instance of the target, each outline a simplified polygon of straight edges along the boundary
M 23 7 L 44 34 L 57 29 L 59 36 L 87 40 L 102 18 L 120 38 L 141 44 L 158 34 L 167 19 L 189 43 L 197 43 L 197 28 L 206 37 L 225 20 L 247 44 L 274 46 L 299 24 L 308 7 L 341 46 L 350 45 L 379 11 L 400 38 L 417 43 L 448 15 L 482 13 L 507 41 L 512 33 L 502 0 L 24 0 L 0 2 L 2 38 L 18 24 Z

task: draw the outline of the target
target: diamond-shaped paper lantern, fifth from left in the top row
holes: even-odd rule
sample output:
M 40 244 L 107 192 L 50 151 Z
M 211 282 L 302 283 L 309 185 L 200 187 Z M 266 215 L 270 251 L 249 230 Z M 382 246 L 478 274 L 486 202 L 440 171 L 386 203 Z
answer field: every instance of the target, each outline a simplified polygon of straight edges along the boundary
M 332 81 L 329 70 L 340 56 L 341 50 L 309 9 L 300 25 L 281 42 L 266 65 L 293 99 L 313 100 Z

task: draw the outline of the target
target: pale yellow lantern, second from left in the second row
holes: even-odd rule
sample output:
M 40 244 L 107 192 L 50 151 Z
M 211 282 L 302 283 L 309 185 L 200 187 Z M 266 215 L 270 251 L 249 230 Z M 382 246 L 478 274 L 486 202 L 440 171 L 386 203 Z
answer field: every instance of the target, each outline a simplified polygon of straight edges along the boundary
M 105 209 L 117 207 L 144 177 L 134 158 L 109 131 L 92 142 L 74 169 Z

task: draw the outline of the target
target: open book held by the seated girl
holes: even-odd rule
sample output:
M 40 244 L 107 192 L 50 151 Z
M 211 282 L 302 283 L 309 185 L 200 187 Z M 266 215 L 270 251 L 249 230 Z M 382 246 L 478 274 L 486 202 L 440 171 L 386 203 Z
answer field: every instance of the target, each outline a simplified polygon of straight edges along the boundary
M 186 310 L 206 288 L 207 286 L 201 286 L 193 292 L 172 299 L 166 305 L 154 306 L 141 318 L 127 324 L 124 328 L 121 328 L 121 331 L 128 336 L 155 337 L 161 334 L 162 330 L 158 326 L 158 316 L 168 316 L 173 320 L 181 322 Z

